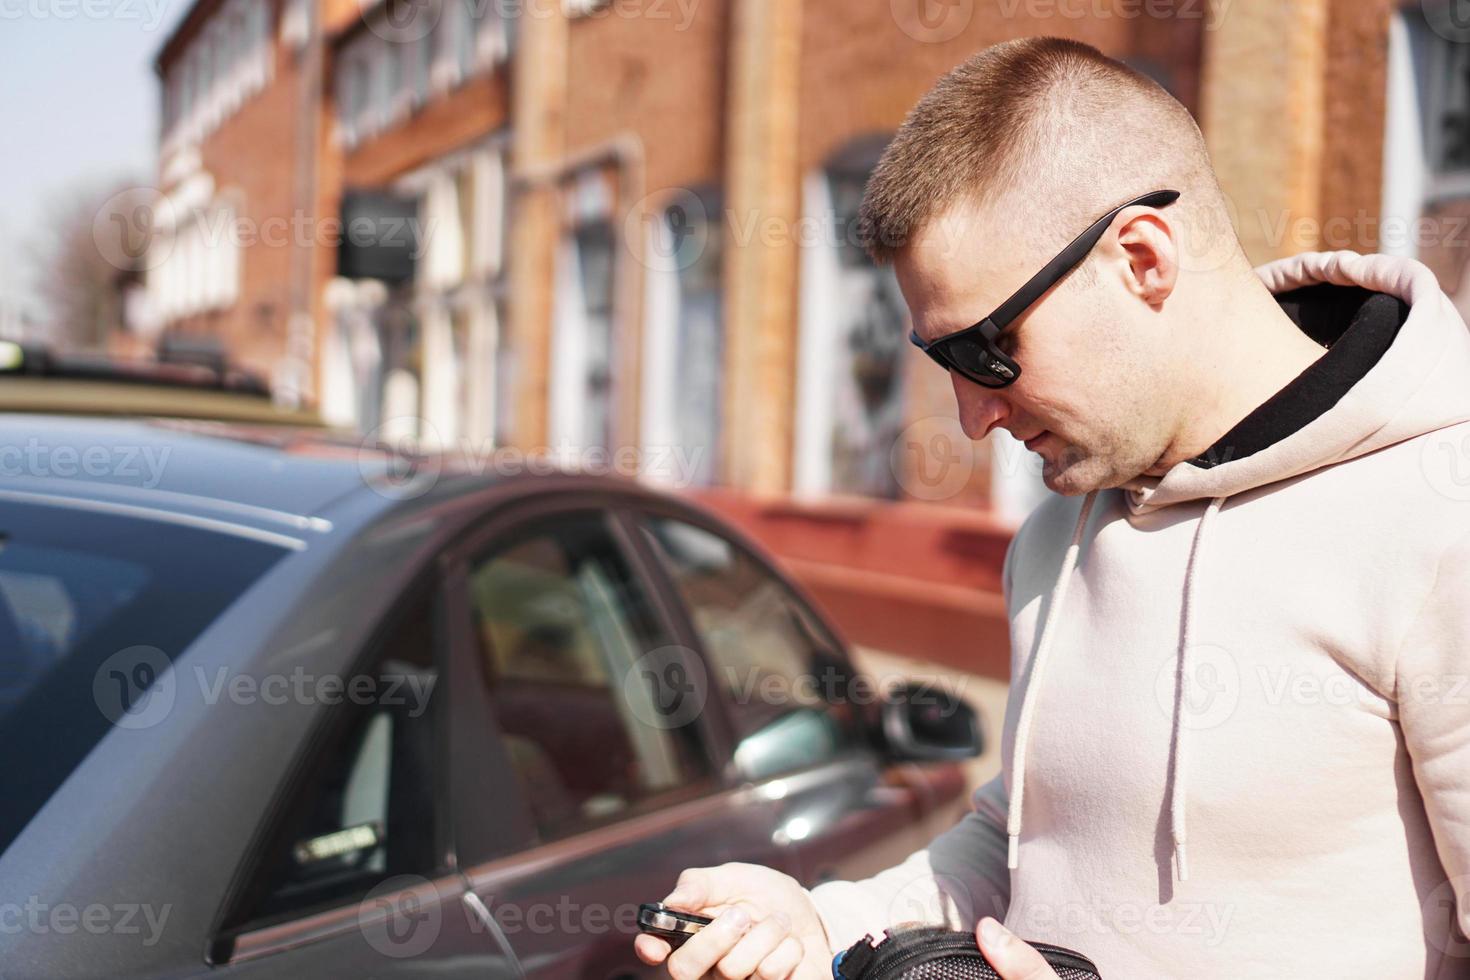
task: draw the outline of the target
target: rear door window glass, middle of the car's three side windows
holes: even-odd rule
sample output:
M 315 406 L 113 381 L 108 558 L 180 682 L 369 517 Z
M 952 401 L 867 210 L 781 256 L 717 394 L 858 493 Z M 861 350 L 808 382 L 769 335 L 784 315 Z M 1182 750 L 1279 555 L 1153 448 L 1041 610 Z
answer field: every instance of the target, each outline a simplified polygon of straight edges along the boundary
M 670 644 L 603 516 L 517 529 L 472 563 L 491 711 L 541 839 L 619 818 L 710 774 L 664 724 L 645 655 Z

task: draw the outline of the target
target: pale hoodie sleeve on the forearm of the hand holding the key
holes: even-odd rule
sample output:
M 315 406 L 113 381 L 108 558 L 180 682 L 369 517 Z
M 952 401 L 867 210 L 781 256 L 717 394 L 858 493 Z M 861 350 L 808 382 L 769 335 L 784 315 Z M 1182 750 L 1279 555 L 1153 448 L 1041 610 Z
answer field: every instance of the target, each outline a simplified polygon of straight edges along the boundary
M 982 915 L 1005 918 L 1005 788 L 997 776 L 975 790 L 973 810 L 901 864 L 861 882 L 810 890 L 832 952 L 897 923 L 975 929 Z

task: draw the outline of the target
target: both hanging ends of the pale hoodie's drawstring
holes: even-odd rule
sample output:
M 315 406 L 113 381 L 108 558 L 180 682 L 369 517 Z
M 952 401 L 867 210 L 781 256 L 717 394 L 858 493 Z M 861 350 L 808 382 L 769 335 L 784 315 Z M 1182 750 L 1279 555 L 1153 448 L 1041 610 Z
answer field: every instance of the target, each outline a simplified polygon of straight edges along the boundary
M 1082 502 L 1082 511 L 1078 514 L 1076 527 L 1072 530 L 1072 544 L 1067 545 L 1067 552 L 1061 560 L 1061 572 L 1057 574 L 1057 585 L 1051 591 L 1051 608 L 1047 614 L 1047 621 L 1041 627 L 1041 641 L 1036 644 L 1036 655 L 1032 658 L 1030 679 L 1026 682 L 1026 692 L 1022 695 L 1020 702 L 1020 717 L 1016 718 L 1016 742 L 1011 746 L 1011 795 L 1010 795 L 1010 810 L 1005 815 L 1005 867 L 1016 870 L 1020 864 L 1020 829 L 1022 829 L 1022 805 L 1026 795 L 1026 746 L 1030 742 L 1030 724 L 1036 711 L 1036 696 L 1041 691 L 1041 682 L 1047 669 L 1047 660 L 1051 654 L 1053 638 L 1055 636 L 1057 620 L 1061 619 L 1063 604 L 1067 599 L 1067 586 L 1072 582 L 1072 573 L 1078 566 L 1078 554 L 1082 550 L 1082 535 L 1086 529 L 1088 517 L 1092 514 L 1092 504 L 1097 500 L 1098 491 L 1088 494 L 1086 500 Z M 1191 626 L 1194 620 L 1194 579 L 1200 567 L 1200 557 L 1204 554 L 1204 542 L 1207 530 L 1211 525 L 1211 519 L 1225 505 L 1225 497 L 1216 497 L 1205 507 L 1204 514 L 1200 517 L 1200 523 L 1195 526 L 1194 542 L 1189 548 L 1189 561 L 1185 566 L 1185 583 L 1183 583 L 1183 608 L 1180 610 L 1182 624 L 1179 629 L 1179 649 L 1176 651 L 1177 663 L 1177 688 L 1176 688 L 1176 714 L 1173 720 L 1173 743 L 1172 754 L 1175 758 L 1175 783 L 1169 793 L 1169 824 L 1170 835 L 1175 845 L 1175 864 L 1179 871 L 1179 880 L 1189 880 L 1189 860 L 1185 849 L 1188 840 L 1185 827 L 1185 799 L 1186 799 L 1186 768 L 1185 768 L 1185 742 L 1183 742 L 1183 711 L 1191 704 L 1188 701 L 1188 683 L 1189 683 L 1189 645 L 1191 645 Z

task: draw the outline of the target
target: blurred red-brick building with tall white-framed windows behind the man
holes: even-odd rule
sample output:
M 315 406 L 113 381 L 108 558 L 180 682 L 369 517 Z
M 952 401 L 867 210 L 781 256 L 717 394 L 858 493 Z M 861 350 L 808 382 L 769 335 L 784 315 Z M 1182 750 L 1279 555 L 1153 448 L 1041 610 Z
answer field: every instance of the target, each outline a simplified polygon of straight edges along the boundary
M 229 75 L 245 94 L 200 110 L 210 72 L 191 51 L 257 9 L 263 78 L 245 62 Z M 856 639 L 1003 671 L 1000 558 L 1039 476 L 1013 444 L 963 439 L 947 381 L 906 350 L 891 270 L 853 242 L 885 141 L 979 47 L 1076 37 L 1197 113 L 1254 259 L 1382 242 L 1460 291 L 1444 229 L 1470 213 L 1470 46 L 1442 15 L 198 0 L 159 56 L 163 190 L 260 220 L 416 231 L 407 248 L 190 260 L 228 275 L 171 259 L 154 282 L 169 329 L 213 331 L 276 378 L 307 364 L 301 388 L 334 420 L 572 461 L 635 448 L 648 479 L 756 529 Z M 1421 241 L 1394 232 L 1426 215 Z M 672 450 L 679 466 L 659 466 Z

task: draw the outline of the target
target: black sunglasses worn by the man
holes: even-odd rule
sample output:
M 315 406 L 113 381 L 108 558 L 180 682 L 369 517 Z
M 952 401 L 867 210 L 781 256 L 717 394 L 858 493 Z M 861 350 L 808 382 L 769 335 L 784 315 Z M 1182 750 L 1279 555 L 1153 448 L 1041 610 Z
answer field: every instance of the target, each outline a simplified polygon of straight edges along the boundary
M 1092 222 L 1092 226 L 1072 239 L 1072 244 L 1057 253 L 1041 272 L 1016 289 L 1008 300 L 995 307 L 988 317 L 954 334 L 945 334 L 932 344 L 925 344 L 917 331 L 908 332 L 908 341 L 933 359 L 945 370 L 954 369 L 963 378 L 969 378 L 976 385 L 985 388 L 1005 388 L 1020 378 L 1020 364 L 1011 360 L 1005 351 L 995 345 L 995 338 L 1010 326 L 1010 322 L 1026 311 L 1032 303 L 1039 300 L 1047 289 L 1057 285 L 1061 276 L 1082 262 L 1092 245 L 1098 244 L 1102 232 L 1107 231 L 1113 219 L 1125 207 L 1144 204 L 1147 207 L 1169 207 L 1179 200 L 1179 191 L 1152 191 L 1142 197 L 1135 197 L 1126 204 L 1119 204 L 1102 217 Z

